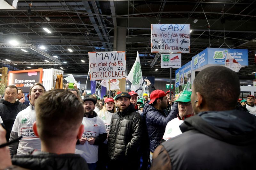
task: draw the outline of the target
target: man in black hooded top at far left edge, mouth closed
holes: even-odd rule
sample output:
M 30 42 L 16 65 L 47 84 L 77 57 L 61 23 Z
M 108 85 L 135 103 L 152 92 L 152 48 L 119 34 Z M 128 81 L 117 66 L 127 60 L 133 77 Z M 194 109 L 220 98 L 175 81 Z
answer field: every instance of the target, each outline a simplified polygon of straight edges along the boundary
M 12 126 L 17 114 L 26 108 L 26 105 L 17 99 L 18 88 L 8 85 L 4 91 L 4 98 L 0 99 L 0 116 L 6 130 L 6 141 L 9 141 Z

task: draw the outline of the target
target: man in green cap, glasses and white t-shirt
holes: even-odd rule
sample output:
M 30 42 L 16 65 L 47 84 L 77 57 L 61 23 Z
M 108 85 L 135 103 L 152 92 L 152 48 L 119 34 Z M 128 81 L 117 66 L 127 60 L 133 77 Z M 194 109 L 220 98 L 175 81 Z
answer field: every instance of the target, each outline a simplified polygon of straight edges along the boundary
M 165 141 L 182 134 L 180 124 L 183 123 L 184 119 L 187 117 L 194 115 L 191 104 L 191 94 L 192 92 L 184 90 L 180 93 L 180 97 L 177 96 L 178 100 L 176 101 L 178 102 L 179 114 L 177 118 L 167 123 L 163 136 Z

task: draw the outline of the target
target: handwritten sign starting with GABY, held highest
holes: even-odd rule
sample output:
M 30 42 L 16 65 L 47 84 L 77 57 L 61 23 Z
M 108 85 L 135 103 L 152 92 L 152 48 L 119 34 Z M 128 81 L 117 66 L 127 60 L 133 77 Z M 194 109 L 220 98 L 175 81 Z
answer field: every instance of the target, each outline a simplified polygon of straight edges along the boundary
M 151 24 L 151 52 L 189 53 L 190 24 Z

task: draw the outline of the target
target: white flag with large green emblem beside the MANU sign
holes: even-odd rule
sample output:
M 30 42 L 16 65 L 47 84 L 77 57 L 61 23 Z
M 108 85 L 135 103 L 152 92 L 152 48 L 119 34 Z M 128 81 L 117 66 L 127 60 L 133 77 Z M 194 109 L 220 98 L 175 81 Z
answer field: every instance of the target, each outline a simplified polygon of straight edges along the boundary
M 138 90 L 140 88 L 140 85 L 143 82 L 139 52 L 137 52 L 136 61 L 133 64 L 132 69 L 127 76 L 127 80 L 129 80 L 132 83 L 132 85 L 131 85 L 132 91 Z

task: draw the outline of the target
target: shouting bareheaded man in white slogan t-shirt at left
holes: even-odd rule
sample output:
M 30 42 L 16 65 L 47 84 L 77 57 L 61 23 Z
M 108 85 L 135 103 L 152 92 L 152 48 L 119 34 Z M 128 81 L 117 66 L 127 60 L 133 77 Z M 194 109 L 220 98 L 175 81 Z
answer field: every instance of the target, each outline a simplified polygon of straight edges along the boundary
M 11 156 L 25 155 L 31 150 L 41 149 L 41 140 L 33 130 L 33 123 L 36 121 L 35 103 L 37 98 L 45 93 L 45 88 L 41 83 L 35 84 L 29 90 L 31 104 L 28 108 L 18 113 L 10 136 L 10 141 L 22 136 L 20 141 L 9 145 Z

